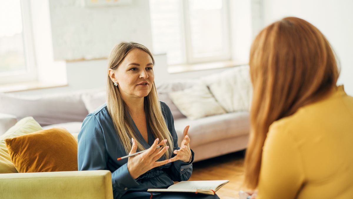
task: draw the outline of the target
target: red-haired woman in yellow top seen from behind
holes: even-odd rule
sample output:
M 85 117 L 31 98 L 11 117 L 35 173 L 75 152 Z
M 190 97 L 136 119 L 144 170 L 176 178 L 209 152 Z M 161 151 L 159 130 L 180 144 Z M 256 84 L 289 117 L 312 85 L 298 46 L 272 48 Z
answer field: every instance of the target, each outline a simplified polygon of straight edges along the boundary
M 240 198 L 353 198 L 353 97 L 324 35 L 288 17 L 250 52 L 251 136 Z

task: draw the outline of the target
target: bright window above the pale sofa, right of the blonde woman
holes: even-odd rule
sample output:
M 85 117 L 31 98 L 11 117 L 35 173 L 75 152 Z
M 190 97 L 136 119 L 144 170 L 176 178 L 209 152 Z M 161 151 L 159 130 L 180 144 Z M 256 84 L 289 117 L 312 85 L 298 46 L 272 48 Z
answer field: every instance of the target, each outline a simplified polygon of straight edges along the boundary
M 169 65 L 230 59 L 226 0 L 150 0 L 152 48 Z

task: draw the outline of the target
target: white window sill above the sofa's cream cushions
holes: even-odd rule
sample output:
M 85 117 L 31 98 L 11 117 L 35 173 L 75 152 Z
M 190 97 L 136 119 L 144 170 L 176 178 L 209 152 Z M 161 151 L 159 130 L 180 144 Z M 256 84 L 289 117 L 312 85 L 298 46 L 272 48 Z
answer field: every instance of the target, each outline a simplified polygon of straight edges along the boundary
M 167 68 L 168 73 L 185 73 L 197 70 L 210 70 L 217 68 L 228 68 L 234 66 L 241 66 L 248 63 L 239 63 L 234 61 L 222 61 L 222 62 L 207 62 L 198 64 L 180 64 L 180 65 L 170 65 Z

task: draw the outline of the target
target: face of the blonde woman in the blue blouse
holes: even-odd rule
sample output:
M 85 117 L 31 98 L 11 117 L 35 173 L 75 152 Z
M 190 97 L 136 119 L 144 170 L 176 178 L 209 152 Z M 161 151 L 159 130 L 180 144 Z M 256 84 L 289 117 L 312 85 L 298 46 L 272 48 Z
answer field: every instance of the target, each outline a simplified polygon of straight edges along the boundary
M 132 49 L 117 69 L 109 69 L 109 75 L 123 98 L 145 97 L 154 82 L 152 58 L 143 50 Z

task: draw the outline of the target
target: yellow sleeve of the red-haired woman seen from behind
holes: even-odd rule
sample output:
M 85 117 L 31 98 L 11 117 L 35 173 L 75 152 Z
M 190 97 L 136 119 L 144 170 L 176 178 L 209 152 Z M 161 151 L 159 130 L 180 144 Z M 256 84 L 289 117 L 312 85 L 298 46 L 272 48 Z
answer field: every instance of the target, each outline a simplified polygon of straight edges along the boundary
M 257 199 L 296 198 L 304 176 L 292 135 L 272 125 L 263 147 Z

